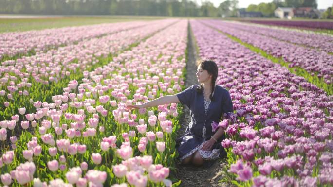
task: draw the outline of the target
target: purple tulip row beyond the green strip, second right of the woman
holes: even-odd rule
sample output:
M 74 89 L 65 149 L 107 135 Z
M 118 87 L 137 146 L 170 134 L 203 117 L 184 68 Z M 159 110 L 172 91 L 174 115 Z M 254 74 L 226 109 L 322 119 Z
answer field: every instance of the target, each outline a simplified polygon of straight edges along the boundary
M 255 47 L 262 49 L 275 57 L 281 57 L 290 62 L 290 67 L 300 67 L 306 71 L 323 78 L 326 84 L 333 85 L 333 55 L 324 51 L 297 46 L 271 37 L 254 34 L 248 31 L 234 28 L 235 23 L 205 20 L 203 23 L 212 26 L 222 32 L 231 34 Z M 260 28 L 258 28 L 260 29 Z

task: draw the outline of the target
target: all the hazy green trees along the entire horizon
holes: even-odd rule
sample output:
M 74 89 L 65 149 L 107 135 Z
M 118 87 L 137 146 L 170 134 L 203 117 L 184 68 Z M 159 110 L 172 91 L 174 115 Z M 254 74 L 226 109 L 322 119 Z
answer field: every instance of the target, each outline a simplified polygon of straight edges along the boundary
M 274 17 L 277 7 L 317 6 L 316 0 L 272 0 L 245 10 Z M 238 10 L 238 0 L 224 0 L 219 7 L 207 0 L 201 6 L 193 0 L 0 0 L 2 14 L 237 17 Z M 332 11 L 329 8 L 323 18 L 332 18 Z

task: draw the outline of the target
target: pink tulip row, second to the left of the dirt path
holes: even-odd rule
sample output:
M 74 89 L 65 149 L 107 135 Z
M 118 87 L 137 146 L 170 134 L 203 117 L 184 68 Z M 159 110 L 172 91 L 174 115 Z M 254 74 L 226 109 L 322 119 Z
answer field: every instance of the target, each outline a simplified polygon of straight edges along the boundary
M 83 71 L 109 63 L 115 54 L 128 50 L 175 21 L 152 21 L 139 28 L 3 62 L 0 66 L 0 120 L 14 115 L 19 104 L 27 105 L 26 109 L 30 111 L 31 100 L 51 102 L 51 96 L 62 93 L 71 79 L 81 81 L 88 76 Z

